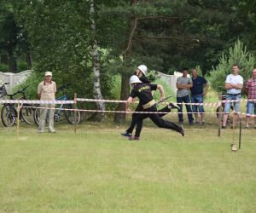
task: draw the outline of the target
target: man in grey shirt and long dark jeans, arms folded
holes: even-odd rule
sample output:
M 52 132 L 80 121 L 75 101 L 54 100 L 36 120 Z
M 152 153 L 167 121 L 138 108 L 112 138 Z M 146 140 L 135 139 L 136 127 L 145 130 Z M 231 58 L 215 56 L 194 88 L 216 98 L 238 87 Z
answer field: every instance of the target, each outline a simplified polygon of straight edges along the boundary
M 190 106 L 190 90 L 193 87 L 193 82 L 191 78 L 188 77 L 188 69 L 183 68 L 183 76 L 177 78 L 177 106 L 180 108 L 178 110 L 178 122 L 183 124 L 183 102 L 186 105 L 188 112 L 189 124 L 193 124 L 192 109 Z

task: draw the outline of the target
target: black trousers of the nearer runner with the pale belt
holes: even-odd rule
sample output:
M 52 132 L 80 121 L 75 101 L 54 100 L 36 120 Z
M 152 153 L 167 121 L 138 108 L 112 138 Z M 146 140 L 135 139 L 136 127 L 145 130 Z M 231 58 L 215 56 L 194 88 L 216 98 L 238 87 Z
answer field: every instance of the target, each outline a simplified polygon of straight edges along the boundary
M 157 112 L 157 108 L 155 106 L 150 107 L 146 110 L 143 110 L 144 112 Z M 143 130 L 143 119 L 150 118 L 154 124 L 156 124 L 160 128 L 165 128 L 169 130 L 175 130 L 179 132 L 180 127 L 177 124 L 173 124 L 170 121 L 166 121 L 162 118 L 160 118 L 159 114 L 153 113 L 153 114 L 139 114 L 137 116 L 137 129 L 135 135 L 139 137 L 141 135 L 141 131 Z

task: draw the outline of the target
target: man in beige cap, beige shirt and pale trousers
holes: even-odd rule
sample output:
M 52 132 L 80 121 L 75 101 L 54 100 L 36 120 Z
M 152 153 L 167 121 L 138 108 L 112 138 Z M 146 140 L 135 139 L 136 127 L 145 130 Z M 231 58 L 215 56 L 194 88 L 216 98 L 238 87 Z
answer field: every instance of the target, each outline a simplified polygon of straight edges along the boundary
M 38 84 L 38 98 L 40 101 L 55 101 L 56 83 L 51 80 L 52 72 L 44 73 L 44 81 Z M 41 107 L 55 108 L 55 104 L 41 104 Z M 46 115 L 49 115 L 49 132 L 55 133 L 54 128 L 54 109 L 41 109 L 39 118 L 39 128 L 38 132 L 43 133 L 45 127 Z

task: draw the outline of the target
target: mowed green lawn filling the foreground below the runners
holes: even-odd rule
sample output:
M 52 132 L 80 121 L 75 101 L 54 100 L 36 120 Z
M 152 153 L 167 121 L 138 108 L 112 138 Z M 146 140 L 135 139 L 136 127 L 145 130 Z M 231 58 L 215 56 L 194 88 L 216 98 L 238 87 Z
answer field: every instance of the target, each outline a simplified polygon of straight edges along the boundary
M 256 212 L 256 130 L 185 126 L 182 137 L 146 124 L 141 141 L 125 126 L 0 125 L 0 212 Z M 238 143 L 238 130 L 236 130 Z

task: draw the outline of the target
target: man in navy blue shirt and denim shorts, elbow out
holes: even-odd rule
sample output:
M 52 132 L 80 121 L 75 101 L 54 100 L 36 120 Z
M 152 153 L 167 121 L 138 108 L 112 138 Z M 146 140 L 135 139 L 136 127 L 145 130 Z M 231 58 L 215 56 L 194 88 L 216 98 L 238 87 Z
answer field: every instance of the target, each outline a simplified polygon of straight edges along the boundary
M 191 103 L 203 103 L 203 97 L 207 94 L 209 84 L 206 78 L 198 75 L 196 69 L 192 69 L 191 72 L 193 86 L 191 91 Z M 203 105 L 192 105 L 192 109 L 195 115 L 195 124 L 199 124 L 198 114 L 201 114 L 201 124 L 205 124 L 205 111 Z

